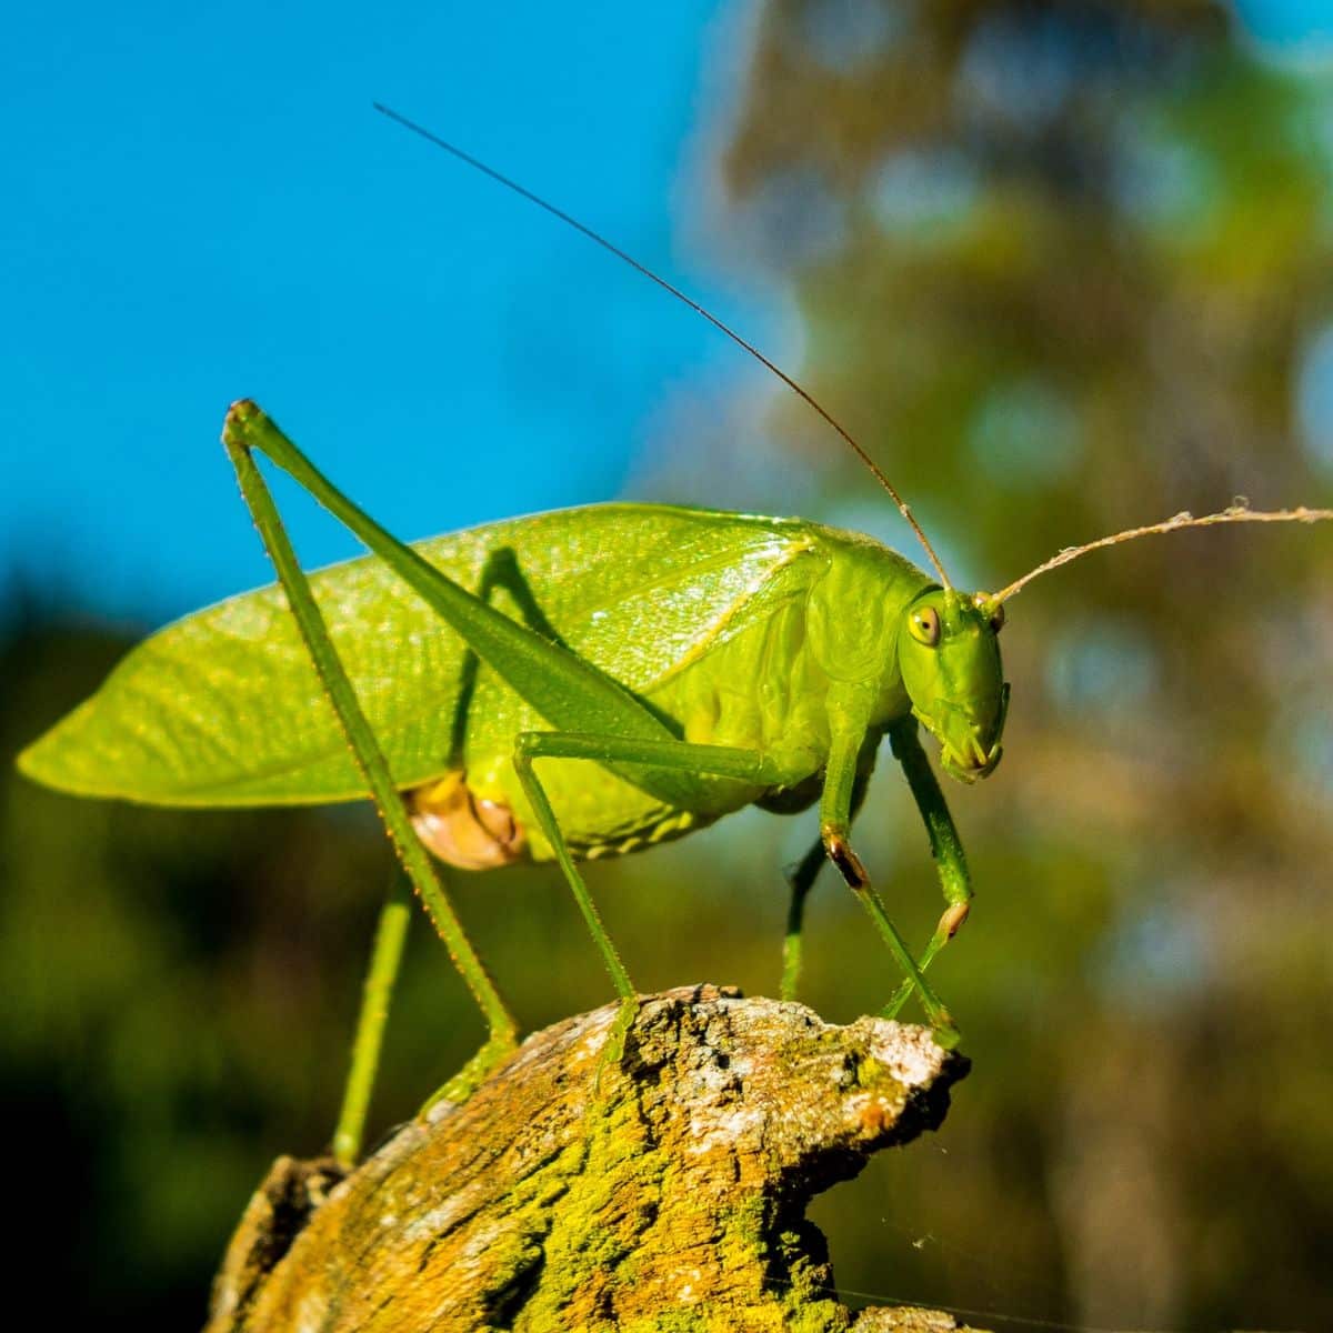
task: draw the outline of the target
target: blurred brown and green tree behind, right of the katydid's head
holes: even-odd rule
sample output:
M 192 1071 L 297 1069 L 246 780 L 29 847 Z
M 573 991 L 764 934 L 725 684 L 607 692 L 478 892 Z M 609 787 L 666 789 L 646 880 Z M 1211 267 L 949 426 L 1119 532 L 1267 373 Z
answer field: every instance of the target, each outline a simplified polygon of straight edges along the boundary
M 1328 503 L 1326 79 L 1260 63 L 1212 0 L 768 0 L 753 31 L 734 248 L 790 280 L 802 384 L 953 577 L 1237 495 Z M 866 521 L 854 460 L 794 399 L 773 416 L 813 507 Z M 1094 1325 L 1326 1318 L 1330 576 L 1325 531 L 1198 535 L 1010 607 L 1009 757 L 949 792 L 982 898 L 940 986 L 976 1084 L 949 1164 L 830 1201 L 842 1281 Z M 864 824 L 914 846 L 897 809 Z M 868 1220 L 876 1189 L 920 1248 Z

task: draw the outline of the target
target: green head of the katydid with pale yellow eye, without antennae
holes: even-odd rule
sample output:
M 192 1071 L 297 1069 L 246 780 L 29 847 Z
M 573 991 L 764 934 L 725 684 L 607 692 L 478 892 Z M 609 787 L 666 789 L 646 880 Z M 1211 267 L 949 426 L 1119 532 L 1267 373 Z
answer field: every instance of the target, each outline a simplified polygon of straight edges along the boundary
M 964 782 L 1000 762 L 1009 685 L 1000 664 L 1004 611 L 985 593 L 932 588 L 898 627 L 898 666 L 912 713 L 940 742 L 945 772 Z

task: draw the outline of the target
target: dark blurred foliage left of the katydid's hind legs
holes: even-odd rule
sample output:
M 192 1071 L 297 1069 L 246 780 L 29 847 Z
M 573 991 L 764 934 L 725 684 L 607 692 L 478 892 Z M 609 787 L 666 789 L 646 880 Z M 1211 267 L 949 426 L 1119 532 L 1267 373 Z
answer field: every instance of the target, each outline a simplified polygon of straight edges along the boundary
M 11 1261 L 72 1326 L 107 1310 L 197 1325 L 263 1156 L 328 1132 L 341 1072 L 317 1034 L 355 1005 L 328 976 L 355 974 L 375 901 L 355 886 L 384 868 L 317 812 L 183 817 L 20 778 L 15 752 L 128 640 L 17 595 L 4 609 L 0 1086 L 25 1217 Z

